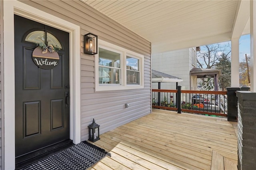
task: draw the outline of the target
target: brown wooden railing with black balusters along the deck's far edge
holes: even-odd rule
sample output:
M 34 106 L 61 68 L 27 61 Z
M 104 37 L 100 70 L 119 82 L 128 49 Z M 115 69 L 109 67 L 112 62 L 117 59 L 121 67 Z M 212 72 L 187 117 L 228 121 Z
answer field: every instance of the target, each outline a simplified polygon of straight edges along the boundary
M 152 108 L 227 117 L 227 92 L 152 89 Z

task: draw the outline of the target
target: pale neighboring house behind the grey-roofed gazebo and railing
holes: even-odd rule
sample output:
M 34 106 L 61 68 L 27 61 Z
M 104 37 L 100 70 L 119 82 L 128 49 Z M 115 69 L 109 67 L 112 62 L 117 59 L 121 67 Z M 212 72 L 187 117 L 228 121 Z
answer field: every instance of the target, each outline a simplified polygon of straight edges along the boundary
M 182 90 L 196 90 L 197 78 L 190 75 L 196 67 L 196 47 L 152 54 L 152 69 L 181 78 Z M 156 84 L 152 84 L 157 89 Z M 176 83 L 163 83 L 161 89 L 176 89 Z

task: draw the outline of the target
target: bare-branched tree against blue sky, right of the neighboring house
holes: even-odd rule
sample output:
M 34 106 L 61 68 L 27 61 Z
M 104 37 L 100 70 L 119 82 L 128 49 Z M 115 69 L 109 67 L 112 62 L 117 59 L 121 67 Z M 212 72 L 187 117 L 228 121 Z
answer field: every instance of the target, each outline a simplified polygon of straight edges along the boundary
M 219 43 L 209 44 L 200 47 L 201 50 L 197 53 L 197 66 L 200 68 L 215 68 L 216 63 L 223 55 L 230 57 L 231 48 L 228 45 L 221 45 Z

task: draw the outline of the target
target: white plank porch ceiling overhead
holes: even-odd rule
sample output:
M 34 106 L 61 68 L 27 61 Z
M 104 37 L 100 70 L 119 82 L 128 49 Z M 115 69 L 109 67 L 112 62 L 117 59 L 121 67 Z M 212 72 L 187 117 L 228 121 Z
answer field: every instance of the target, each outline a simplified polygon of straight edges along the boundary
M 249 25 L 250 1 L 246 0 L 84 2 L 149 40 L 152 53 L 224 42 L 234 35 L 248 34 L 244 28 L 246 23 L 247 27 Z M 239 26 L 239 29 L 235 29 L 235 26 Z

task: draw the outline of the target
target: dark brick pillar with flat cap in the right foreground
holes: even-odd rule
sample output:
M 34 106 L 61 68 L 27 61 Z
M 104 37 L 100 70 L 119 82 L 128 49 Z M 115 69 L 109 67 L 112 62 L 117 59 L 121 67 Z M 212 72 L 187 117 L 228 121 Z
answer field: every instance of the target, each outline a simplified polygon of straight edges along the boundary
M 237 91 L 238 97 L 238 170 L 256 167 L 256 93 Z

